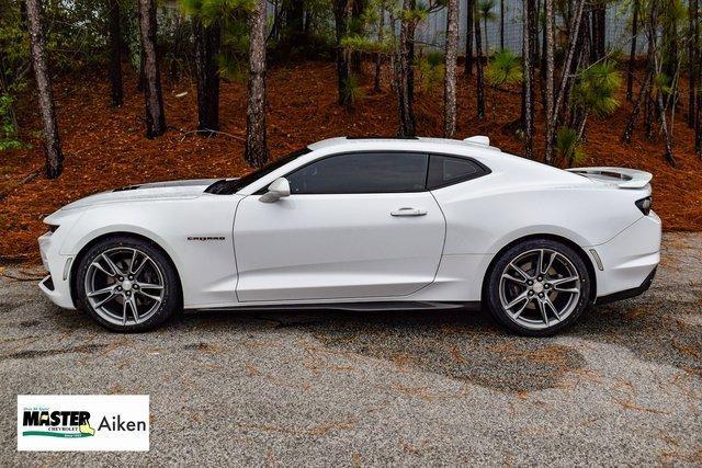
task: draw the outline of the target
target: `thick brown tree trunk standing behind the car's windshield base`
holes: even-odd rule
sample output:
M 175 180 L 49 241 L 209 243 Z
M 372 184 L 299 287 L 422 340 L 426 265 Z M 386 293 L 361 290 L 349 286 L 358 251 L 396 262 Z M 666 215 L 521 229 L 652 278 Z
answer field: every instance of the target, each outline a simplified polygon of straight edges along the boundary
M 257 0 L 250 18 L 249 34 L 249 104 L 246 111 L 246 152 L 249 165 L 261 168 L 268 162 L 265 141 L 265 7 Z

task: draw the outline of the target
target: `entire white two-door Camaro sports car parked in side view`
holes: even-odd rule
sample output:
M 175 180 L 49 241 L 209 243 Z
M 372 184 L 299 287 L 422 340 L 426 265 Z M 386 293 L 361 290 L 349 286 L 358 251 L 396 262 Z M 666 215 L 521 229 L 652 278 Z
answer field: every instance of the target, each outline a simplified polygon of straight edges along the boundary
M 45 218 L 58 306 L 111 330 L 181 309 L 485 305 L 546 335 L 642 294 L 660 260 L 652 175 L 564 171 L 486 137 L 333 138 L 241 179 L 103 192 Z

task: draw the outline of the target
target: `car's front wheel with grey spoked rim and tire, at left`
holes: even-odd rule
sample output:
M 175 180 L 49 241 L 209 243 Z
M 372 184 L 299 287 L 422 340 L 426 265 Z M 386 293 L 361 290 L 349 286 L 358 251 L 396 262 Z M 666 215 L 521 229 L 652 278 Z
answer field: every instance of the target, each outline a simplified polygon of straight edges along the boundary
M 113 331 L 151 330 L 180 309 L 176 269 L 145 240 L 98 242 L 82 255 L 76 282 L 81 308 Z

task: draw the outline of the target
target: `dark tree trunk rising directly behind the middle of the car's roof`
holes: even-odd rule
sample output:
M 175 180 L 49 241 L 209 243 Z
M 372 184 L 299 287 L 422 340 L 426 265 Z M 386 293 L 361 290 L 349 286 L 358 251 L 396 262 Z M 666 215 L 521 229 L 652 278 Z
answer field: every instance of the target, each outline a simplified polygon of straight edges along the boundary
M 403 0 L 403 12 L 412 9 L 412 0 Z M 399 44 L 397 53 L 397 102 L 399 105 L 399 130 L 403 137 L 414 137 L 417 135 L 415 124 L 415 111 L 412 109 L 412 78 L 411 78 L 411 54 L 410 46 L 414 38 L 414 27 L 410 24 L 414 20 L 401 16 L 399 30 Z

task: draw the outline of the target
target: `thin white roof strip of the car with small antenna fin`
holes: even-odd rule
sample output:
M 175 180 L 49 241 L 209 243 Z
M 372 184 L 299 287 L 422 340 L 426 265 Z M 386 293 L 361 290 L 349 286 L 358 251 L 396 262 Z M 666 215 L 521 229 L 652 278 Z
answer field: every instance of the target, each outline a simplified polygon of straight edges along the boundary
M 489 145 L 489 138 L 485 136 L 476 136 L 466 138 L 464 140 L 457 139 L 449 139 L 449 138 L 429 138 L 429 137 L 414 137 L 414 138 L 401 138 L 401 137 L 338 137 L 338 138 L 328 138 L 321 141 L 314 142 L 308 146 L 313 151 L 317 150 L 330 150 L 333 151 L 333 148 L 337 147 L 346 147 L 348 150 L 353 146 L 358 146 L 359 148 L 367 149 L 369 146 L 373 146 L 376 144 L 383 148 L 386 148 L 389 142 L 392 146 L 397 149 L 421 149 L 427 150 L 428 147 L 435 147 L 432 150 L 441 152 L 442 150 L 446 150 L 446 146 L 453 147 L 453 149 L 461 150 L 467 148 L 488 150 L 501 152 L 501 150 L 497 147 Z M 421 147 L 421 148 L 419 148 Z

